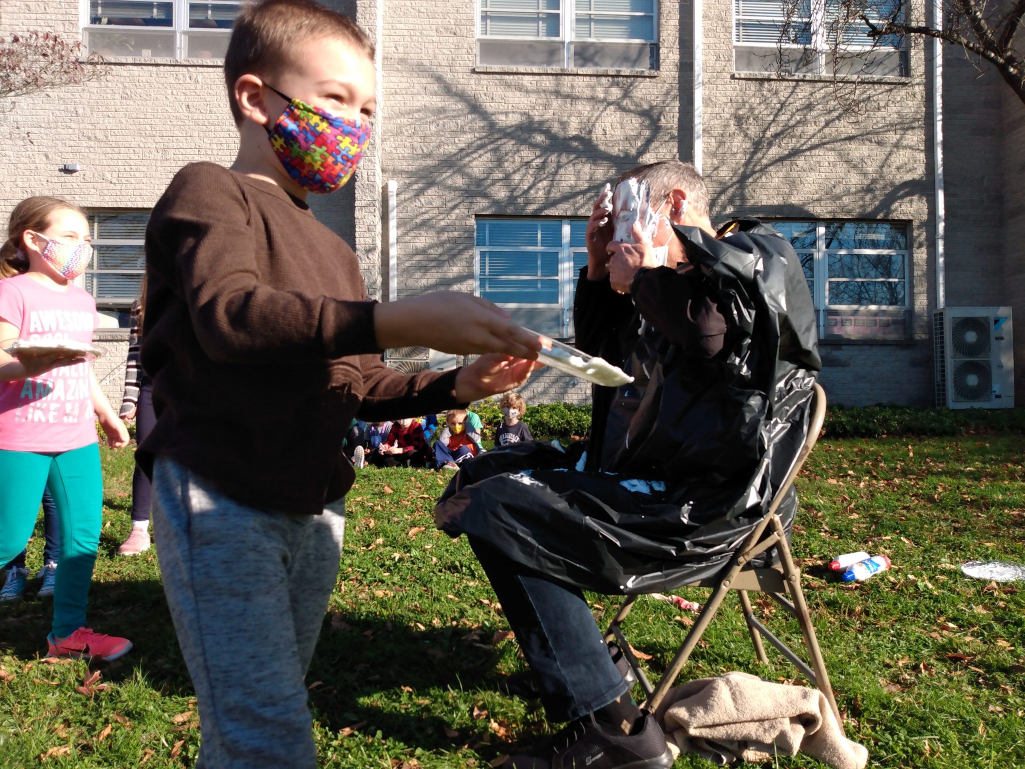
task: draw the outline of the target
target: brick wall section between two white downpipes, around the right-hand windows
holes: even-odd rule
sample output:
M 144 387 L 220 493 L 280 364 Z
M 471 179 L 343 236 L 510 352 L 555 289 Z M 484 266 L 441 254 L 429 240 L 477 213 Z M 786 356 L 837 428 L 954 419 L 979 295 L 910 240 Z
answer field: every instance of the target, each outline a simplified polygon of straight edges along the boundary
M 925 403 L 932 392 L 933 181 L 924 50 L 911 77 L 862 83 L 851 96 L 825 78 L 734 73 L 729 3 L 704 9 L 704 174 L 713 219 L 889 219 L 910 225 L 907 343 L 822 342 L 832 403 Z M 838 88 L 838 90 L 837 90 Z

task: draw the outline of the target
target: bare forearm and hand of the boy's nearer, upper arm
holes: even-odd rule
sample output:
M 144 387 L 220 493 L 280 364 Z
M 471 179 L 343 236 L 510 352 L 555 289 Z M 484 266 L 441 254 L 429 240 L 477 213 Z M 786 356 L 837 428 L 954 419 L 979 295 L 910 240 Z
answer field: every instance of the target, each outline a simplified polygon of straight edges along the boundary
M 540 340 L 495 305 L 466 293 L 437 291 L 374 307 L 382 350 L 422 346 L 443 353 L 503 353 L 534 360 Z

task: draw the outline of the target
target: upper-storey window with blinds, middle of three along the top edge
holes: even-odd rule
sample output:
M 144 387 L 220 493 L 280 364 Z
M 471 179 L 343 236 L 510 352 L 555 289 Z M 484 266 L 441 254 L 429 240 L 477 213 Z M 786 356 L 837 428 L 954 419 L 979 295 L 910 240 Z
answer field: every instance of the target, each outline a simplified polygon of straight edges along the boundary
M 657 0 L 477 0 L 478 64 L 658 69 Z

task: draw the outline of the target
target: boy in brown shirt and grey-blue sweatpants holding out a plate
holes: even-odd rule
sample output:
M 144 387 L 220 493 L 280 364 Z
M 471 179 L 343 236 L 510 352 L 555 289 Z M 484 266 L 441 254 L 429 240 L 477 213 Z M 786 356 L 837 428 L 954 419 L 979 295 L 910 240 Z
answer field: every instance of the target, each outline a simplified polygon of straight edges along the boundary
M 199 700 L 198 767 L 317 766 L 303 677 L 337 575 L 357 412 L 437 412 L 536 365 L 523 358 L 537 339 L 482 299 L 367 301 L 356 256 L 306 206 L 369 140 L 373 57 L 355 24 L 311 0 L 244 7 L 224 60 L 238 157 L 179 171 L 147 230 L 158 418 L 139 457 Z M 483 356 L 414 376 L 380 362 L 414 345 Z

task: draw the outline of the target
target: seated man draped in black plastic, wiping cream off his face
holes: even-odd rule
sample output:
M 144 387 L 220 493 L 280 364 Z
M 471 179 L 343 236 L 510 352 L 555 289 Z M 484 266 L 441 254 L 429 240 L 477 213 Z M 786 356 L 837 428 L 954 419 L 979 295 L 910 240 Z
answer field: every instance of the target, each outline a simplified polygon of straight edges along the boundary
M 650 192 L 652 238 L 610 242 L 596 203 L 577 345 L 634 380 L 596 387 L 586 446 L 514 443 L 463 466 L 437 509 L 466 533 L 548 718 L 569 721 L 515 769 L 668 767 L 581 590 L 651 593 L 716 573 L 765 515 L 808 430 L 815 312 L 789 243 L 754 219 L 716 234 L 678 161 L 624 174 Z M 586 448 L 586 452 L 583 449 Z M 780 515 L 789 526 L 796 497 Z

